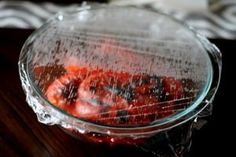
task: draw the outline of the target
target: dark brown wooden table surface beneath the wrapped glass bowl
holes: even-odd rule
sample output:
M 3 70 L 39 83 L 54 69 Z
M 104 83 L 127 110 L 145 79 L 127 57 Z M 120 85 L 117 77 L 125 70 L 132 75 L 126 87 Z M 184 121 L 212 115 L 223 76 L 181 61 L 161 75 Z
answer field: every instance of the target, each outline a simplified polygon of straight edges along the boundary
M 37 121 L 36 115 L 25 102 L 18 74 L 18 57 L 21 47 L 32 30 L 0 29 L 0 157 L 17 156 L 81 156 L 108 157 L 99 148 L 88 147 L 64 133 L 57 126 L 46 126 Z M 193 134 L 190 157 L 232 155 L 228 141 L 233 138 L 230 119 L 234 108 L 231 76 L 235 66 L 233 47 L 236 41 L 212 40 L 223 53 L 223 73 L 214 102 L 213 116 Z M 234 123 L 235 124 L 235 123 Z M 126 156 L 132 156 L 127 151 Z M 124 156 L 123 156 L 124 157 Z

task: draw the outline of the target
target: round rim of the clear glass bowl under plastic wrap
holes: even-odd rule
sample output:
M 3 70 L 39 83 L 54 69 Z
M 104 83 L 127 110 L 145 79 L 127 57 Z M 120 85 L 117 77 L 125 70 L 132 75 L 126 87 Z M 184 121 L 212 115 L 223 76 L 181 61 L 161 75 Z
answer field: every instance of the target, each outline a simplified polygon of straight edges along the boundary
M 84 9 L 84 10 L 96 10 L 96 9 L 104 9 L 104 7 L 99 7 L 99 8 L 89 8 L 89 9 Z M 120 8 L 118 6 L 115 6 L 115 8 Z M 130 7 L 124 7 L 122 6 L 122 8 L 130 8 Z M 133 8 L 133 7 L 132 7 Z M 105 8 L 106 9 L 106 8 Z M 137 8 L 135 8 L 137 9 Z M 80 13 L 82 11 L 84 11 L 83 9 L 81 9 L 80 11 L 75 11 L 75 13 Z M 181 24 L 181 26 L 185 27 L 186 31 L 189 31 L 191 33 L 193 33 L 195 36 L 196 36 L 196 40 L 198 42 L 200 42 L 197 38 L 197 36 L 199 36 L 199 34 L 194 30 L 192 29 L 191 27 L 189 27 L 188 25 L 184 24 L 183 22 L 180 22 L 176 19 L 174 19 L 172 16 L 168 15 L 168 14 L 164 14 L 162 12 L 153 12 L 153 11 L 148 11 L 148 10 L 144 10 L 144 9 L 138 9 L 138 11 L 146 11 L 146 12 L 150 12 L 150 13 L 154 13 L 154 14 L 161 14 L 167 18 L 169 18 L 170 20 L 173 20 L 174 22 L 177 22 L 178 24 Z M 24 46 L 22 47 L 22 50 L 21 50 L 21 55 L 23 55 L 23 49 L 25 48 L 25 46 L 27 45 L 27 43 L 30 41 L 30 40 L 34 40 L 33 38 L 35 38 L 35 36 L 41 31 L 43 30 L 48 24 L 50 24 L 50 22 L 52 20 L 55 20 L 58 16 L 60 15 L 63 15 L 63 14 L 67 14 L 67 12 L 60 12 L 58 14 L 56 14 L 54 17 L 52 17 L 47 23 L 45 23 L 43 26 L 41 26 L 39 29 L 37 29 L 34 33 L 32 33 L 28 39 L 26 40 Z M 204 37 L 203 37 L 204 38 Z M 206 39 L 207 40 L 207 39 Z M 206 48 L 204 48 L 202 46 L 202 48 L 207 52 Z M 28 53 L 28 51 L 27 51 Z M 24 54 L 25 55 L 25 54 Z M 27 54 L 26 54 L 27 55 Z M 209 56 L 209 54 L 208 54 Z M 25 60 L 27 61 L 27 57 L 25 58 Z M 156 124 L 152 124 L 152 125 L 148 125 L 148 126 L 135 126 L 135 127 L 124 127 L 124 126 L 107 126 L 107 125 L 102 125 L 102 124 L 96 124 L 96 123 L 93 123 L 93 122 L 89 122 L 89 121 L 86 121 L 86 120 L 83 120 L 83 119 L 80 119 L 78 117 L 75 117 L 75 116 L 72 116 L 70 115 L 69 113 L 63 111 L 62 109 L 59 109 L 57 108 L 55 105 L 51 104 L 46 98 L 45 96 L 42 95 L 42 93 L 40 92 L 40 89 L 37 87 L 37 85 L 33 82 L 33 78 L 30 76 L 29 74 L 29 66 L 28 64 L 26 64 L 26 72 L 27 72 L 27 79 L 33 89 L 33 91 L 36 93 L 36 95 L 48 106 L 52 107 L 54 110 L 56 110 L 57 112 L 59 112 L 60 114 L 62 114 L 63 116 L 66 116 L 67 118 L 71 118 L 73 119 L 74 121 L 78 121 L 79 124 L 81 123 L 86 123 L 87 126 L 91 126 L 92 128 L 93 127 L 98 127 L 98 128 L 102 128 L 102 130 L 106 130 L 107 131 L 118 131 L 118 132 L 122 132 L 122 131 L 128 131 L 128 132 L 134 132 L 135 130 L 141 130 L 141 131 L 144 131 L 144 130 L 148 130 L 148 132 L 152 132 L 153 130 L 152 129 L 157 129 L 159 128 L 159 131 L 160 130 L 165 130 L 165 129 L 169 129 L 171 127 L 174 127 L 175 125 L 179 125 L 185 121 L 188 121 L 189 119 L 193 118 L 195 115 L 197 115 L 197 113 L 199 113 L 201 110 L 203 110 L 207 104 L 204 104 L 202 103 L 202 101 L 205 99 L 205 97 L 207 96 L 208 92 L 210 91 L 210 87 L 212 85 L 212 81 L 213 81 L 213 67 L 212 67 L 212 63 L 211 63 L 211 60 L 210 60 L 210 57 L 209 57 L 209 66 L 208 67 L 208 80 L 206 81 L 205 85 L 204 85 L 204 89 L 202 89 L 201 93 L 199 94 L 200 96 L 198 96 L 196 98 L 196 101 L 190 105 L 190 107 L 188 107 L 188 109 L 186 109 L 184 112 L 180 112 L 180 113 L 176 113 L 176 114 L 173 114 L 171 115 L 170 117 L 166 117 L 164 118 L 163 120 L 160 120 L 158 121 L 158 123 Z M 20 64 L 20 62 L 19 62 Z M 200 108 L 200 110 L 198 110 L 197 112 L 195 111 L 196 108 Z M 190 114 L 191 112 L 195 112 L 194 114 Z M 188 116 L 189 115 L 189 116 Z M 52 115 L 53 116 L 53 115 Z M 183 118 L 183 119 L 182 119 Z M 64 119 L 64 118 L 63 118 Z M 63 121 L 63 119 L 61 119 Z M 182 120 L 180 120 L 182 119 Z M 180 120 L 180 121 L 179 121 Z M 175 123 L 177 121 L 177 123 Z M 167 127 L 164 127 L 166 126 L 167 124 L 171 124 L 171 126 L 167 126 Z M 150 131 L 152 130 L 152 131 Z M 158 130 L 156 130 L 158 131 Z M 104 132 L 104 131 L 103 131 Z M 155 130 L 154 130 L 155 132 Z

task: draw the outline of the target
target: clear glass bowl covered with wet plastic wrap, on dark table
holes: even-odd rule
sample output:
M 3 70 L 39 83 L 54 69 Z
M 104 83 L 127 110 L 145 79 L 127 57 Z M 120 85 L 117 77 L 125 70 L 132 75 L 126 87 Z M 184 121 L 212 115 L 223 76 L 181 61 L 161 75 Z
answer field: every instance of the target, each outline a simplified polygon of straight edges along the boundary
M 182 156 L 189 149 L 193 120 L 211 105 L 220 82 L 221 64 L 221 53 L 216 46 L 191 27 L 161 12 L 117 6 L 86 6 L 58 13 L 27 39 L 18 62 L 26 100 L 41 123 L 59 125 L 84 141 L 117 146 L 132 145 L 163 157 Z M 136 118 L 133 121 L 128 118 L 123 123 L 114 119 L 122 120 L 125 116 L 115 115 L 111 121 L 101 121 L 101 116 L 91 118 L 86 114 L 75 114 L 72 110 L 61 107 L 65 103 L 64 99 L 50 99 L 48 91 L 51 89 L 51 92 L 61 92 L 61 88 L 54 88 L 52 84 L 58 85 L 55 82 L 59 80 L 61 83 L 62 77 L 70 75 L 68 73 L 81 70 L 78 67 L 93 69 L 93 72 L 86 73 L 90 82 L 96 79 L 101 82 L 103 75 L 90 76 L 101 69 L 111 78 L 113 74 L 122 75 L 121 79 L 127 76 L 129 81 L 132 78 L 130 84 L 135 82 L 134 77 L 138 77 L 140 81 L 140 75 L 148 76 L 149 83 L 155 76 L 165 86 L 165 99 L 157 98 L 155 101 L 150 100 L 150 104 L 145 104 L 151 96 L 144 97 L 138 93 L 136 97 L 148 99 L 142 104 L 147 107 L 152 106 L 153 102 L 157 106 L 161 103 L 168 104 L 162 107 L 171 107 L 171 112 L 168 110 L 168 114 L 159 118 L 155 115 L 157 118 L 149 118 L 147 121 L 146 111 L 139 107 L 137 113 L 143 115 L 126 114 L 127 117 Z M 109 72 L 112 74 L 108 74 Z M 88 78 L 87 75 L 82 81 Z M 119 78 L 115 77 L 116 82 L 119 82 Z M 176 95 L 178 92 L 171 90 L 173 84 L 164 83 L 166 78 L 180 82 L 184 94 Z M 137 84 L 132 89 L 136 90 L 139 86 Z M 84 92 L 88 94 L 85 87 L 81 93 L 82 87 L 80 83 L 79 89 L 69 88 L 67 96 L 71 92 L 79 93 L 76 97 L 78 99 Z M 101 88 L 104 92 L 105 87 Z M 158 90 L 160 93 L 160 86 Z M 106 92 L 111 93 L 109 90 Z M 174 96 L 170 96 L 173 93 Z M 82 101 L 95 104 L 96 100 L 98 103 L 97 95 L 91 102 L 91 96 L 86 94 L 81 98 Z M 101 99 L 102 103 L 110 101 L 110 97 Z M 76 103 L 81 101 L 77 99 Z M 94 107 L 89 112 L 95 113 L 96 109 Z M 122 107 L 112 112 L 121 109 Z M 131 109 L 134 110 L 132 107 Z M 147 112 L 155 109 L 147 109 Z M 158 111 L 158 115 L 161 113 Z

